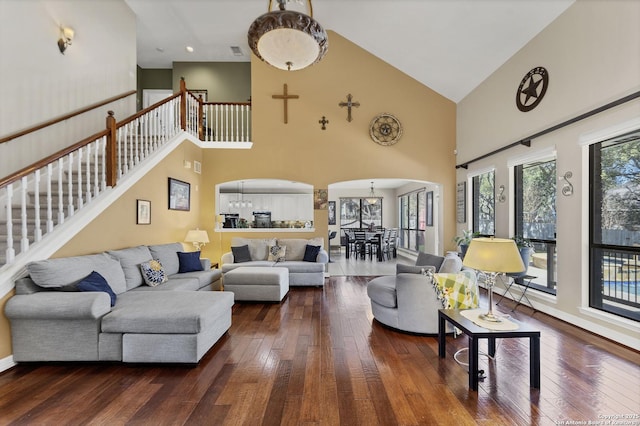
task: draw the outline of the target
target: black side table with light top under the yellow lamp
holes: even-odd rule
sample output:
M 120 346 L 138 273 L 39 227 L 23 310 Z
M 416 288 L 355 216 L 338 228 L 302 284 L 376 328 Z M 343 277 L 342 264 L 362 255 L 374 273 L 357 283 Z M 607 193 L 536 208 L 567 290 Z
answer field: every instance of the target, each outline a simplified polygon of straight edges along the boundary
M 438 310 L 438 355 L 446 356 L 446 322 L 458 327 L 469 337 L 469 388 L 478 390 L 478 341 L 489 339 L 489 355 L 496 353 L 496 339 L 513 337 L 529 338 L 529 381 L 532 388 L 540 389 L 540 330 L 536 330 L 509 318 L 518 325 L 516 330 L 489 330 L 476 325 L 473 321 L 463 317 L 458 309 Z

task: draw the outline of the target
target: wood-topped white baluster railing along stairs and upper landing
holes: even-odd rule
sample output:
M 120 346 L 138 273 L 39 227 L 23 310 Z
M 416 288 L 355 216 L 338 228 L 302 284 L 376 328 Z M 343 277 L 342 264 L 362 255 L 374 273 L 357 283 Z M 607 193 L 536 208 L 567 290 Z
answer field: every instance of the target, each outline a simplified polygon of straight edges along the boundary
M 29 251 L 181 131 L 212 142 L 250 141 L 250 103 L 205 103 L 186 89 L 0 179 L 0 269 Z M 0 139 L 6 142 L 60 120 Z

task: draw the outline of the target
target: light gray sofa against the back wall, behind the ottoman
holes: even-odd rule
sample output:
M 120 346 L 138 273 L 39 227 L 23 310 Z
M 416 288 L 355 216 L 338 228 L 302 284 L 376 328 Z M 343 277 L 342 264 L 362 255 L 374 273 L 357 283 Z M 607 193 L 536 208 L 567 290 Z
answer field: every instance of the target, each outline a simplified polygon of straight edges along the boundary
M 248 257 L 238 259 L 234 252 L 247 246 Z M 319 247 L 317 254 L 304 260 L 307 246 Z M 289 270 L 289 286 L 323 286 L 324 271 L 329 254 L 322 238 L 240 238 L 231 240 L 231 252 L 222 255 L 222 273 L 246 266 L 278 266 Z M 284 249 L 282 249 L 284 247 Z M 279 253 L 277 249 L 281 250 Z M 238 260 L 242 260 L 239 262 Z

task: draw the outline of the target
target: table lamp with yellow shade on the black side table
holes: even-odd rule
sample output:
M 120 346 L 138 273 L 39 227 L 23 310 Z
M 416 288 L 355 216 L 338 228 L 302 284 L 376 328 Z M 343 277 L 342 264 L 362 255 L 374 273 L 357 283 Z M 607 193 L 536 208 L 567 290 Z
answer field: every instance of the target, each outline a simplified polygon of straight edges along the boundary
M 502 321 L 493 313 L 493 286 L 496 283 L 496 277 L 500 274 L 518 273 L 525 270 L 515 241 L 505 238 L 474 238 L 469 244 L 462 264 L 482 271 L 487 276 L 489 311 L 480 315 L 480 318 L 491 322 Z

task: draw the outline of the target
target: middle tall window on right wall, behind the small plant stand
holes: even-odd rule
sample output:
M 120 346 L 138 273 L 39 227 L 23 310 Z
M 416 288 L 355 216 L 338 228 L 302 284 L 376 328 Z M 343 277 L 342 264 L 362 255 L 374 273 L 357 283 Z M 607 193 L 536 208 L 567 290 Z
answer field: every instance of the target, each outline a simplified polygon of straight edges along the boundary
M 556 160 L 520 164 L 514 174 L 515 235 L 533 249 L 525 265 L 526 274 L 533 278 L 526 279 L 532 288 L 556 294 Z

